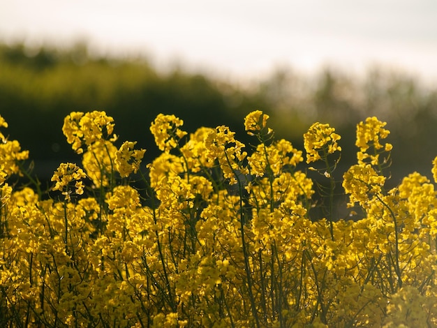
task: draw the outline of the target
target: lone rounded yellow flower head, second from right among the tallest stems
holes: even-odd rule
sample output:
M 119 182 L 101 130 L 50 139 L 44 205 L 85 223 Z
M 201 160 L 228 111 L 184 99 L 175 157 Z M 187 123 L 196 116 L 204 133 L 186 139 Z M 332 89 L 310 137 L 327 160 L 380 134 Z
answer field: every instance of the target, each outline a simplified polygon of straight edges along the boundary
M 340 139 L 341 136 L 336 134 L 335 128 L 329 124 L 315 123 L 311 125 L 308 132 L 304 134 L 306 163 L 318 161 L 334 151 L 341 151 L 341 147 L 337 143 Z

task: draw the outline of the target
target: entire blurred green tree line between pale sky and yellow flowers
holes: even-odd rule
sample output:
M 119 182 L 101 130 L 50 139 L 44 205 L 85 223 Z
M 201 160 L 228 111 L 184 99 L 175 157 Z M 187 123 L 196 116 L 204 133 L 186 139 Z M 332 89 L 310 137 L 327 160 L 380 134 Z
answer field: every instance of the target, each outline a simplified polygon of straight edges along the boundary
M 399 72 L 375 68 L 357 78 L 327 69 L 309 78 L 280 68 L 241 87 L 181 69 L 158 72 L 145 59 L 91 57 L 85 45 L 0 45 L 0 114 L 9 124 L 3 133 L 31 151 L 42 179 L 61 161 L 77 161 L 61 132 L 73 111 L 105 110 L 119 139 L 138 141 L 150 161 L 158 150 L 149 126 L 158 113 L 184 119 L 188 132 L 228 125 L 249 144 L 243 119 L 257 109 L 271 116 L 276 137 L 299 149 L 314 121 L 332 124 L 342 135 L 345 166 L 355 162 L 355 124 L 369 116 L 387 121 L 394 184 L 413 170 L 429 177 L 437 156 L 437 91 Z

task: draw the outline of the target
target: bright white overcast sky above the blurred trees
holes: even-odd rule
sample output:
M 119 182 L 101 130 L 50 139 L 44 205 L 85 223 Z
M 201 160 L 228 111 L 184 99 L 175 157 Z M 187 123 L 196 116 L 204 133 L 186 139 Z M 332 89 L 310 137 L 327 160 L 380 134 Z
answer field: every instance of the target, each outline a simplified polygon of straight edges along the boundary
M 222 77 L 380 64 L 437 86 L 436 0 L 0 0 L 0 40 L 86 40 Z

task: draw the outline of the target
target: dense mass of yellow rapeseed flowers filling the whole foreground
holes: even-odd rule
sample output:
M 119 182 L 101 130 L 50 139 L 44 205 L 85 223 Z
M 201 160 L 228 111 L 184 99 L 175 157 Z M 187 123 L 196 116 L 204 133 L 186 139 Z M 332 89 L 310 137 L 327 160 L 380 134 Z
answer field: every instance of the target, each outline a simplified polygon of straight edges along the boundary
M 341 181 L 350 216 L 336 217 L 315 195 L 334 192 L 340 135 L 320 123 L 304 135 L 323 186 L 267 119 L 247 115 L 246 148 L 227 126 L 187 135 L 160 114 L 163 153 L 146 165 L 105 112 L 73 112 L 63 131 L 82 163 L 61 163 L 47 193 L 0 133 L 0 326 L 436 327 L 431 179 L 386 190 L 389 131 L 366 119 Z

